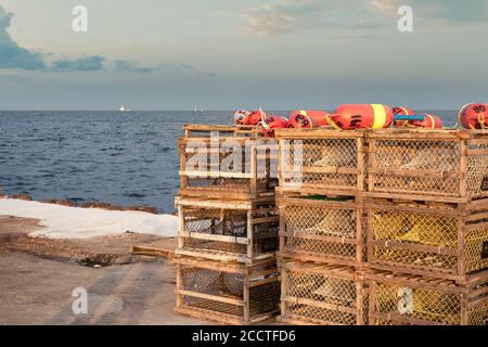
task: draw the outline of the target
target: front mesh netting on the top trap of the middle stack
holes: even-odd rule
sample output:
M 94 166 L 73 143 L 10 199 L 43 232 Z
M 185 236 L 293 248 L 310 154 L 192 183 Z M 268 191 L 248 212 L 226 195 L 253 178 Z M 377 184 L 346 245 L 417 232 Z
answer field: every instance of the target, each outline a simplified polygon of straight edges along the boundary
M 334 172 L 349 169 L 351 174 Z M 358 182 L 356 139 L 286 140 L 284 183 L 319 188 L 351 188 Z

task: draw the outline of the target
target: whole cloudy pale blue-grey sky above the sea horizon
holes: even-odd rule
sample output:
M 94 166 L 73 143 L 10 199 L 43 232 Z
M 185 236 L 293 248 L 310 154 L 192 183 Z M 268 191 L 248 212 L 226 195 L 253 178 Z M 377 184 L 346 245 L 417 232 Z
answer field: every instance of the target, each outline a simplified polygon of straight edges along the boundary
M 455 110 L 487 62 L 488 0 L 0 0 L 0 110 Z

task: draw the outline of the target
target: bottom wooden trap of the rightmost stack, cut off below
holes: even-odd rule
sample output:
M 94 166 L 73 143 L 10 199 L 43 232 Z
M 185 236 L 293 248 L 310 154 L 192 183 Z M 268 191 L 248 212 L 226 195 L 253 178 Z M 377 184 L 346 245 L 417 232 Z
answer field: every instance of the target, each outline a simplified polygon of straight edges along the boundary
M 466 285 L 453 281 L 375 271 L 370 285 L 371 325 L 486 325 L 488 275 Z

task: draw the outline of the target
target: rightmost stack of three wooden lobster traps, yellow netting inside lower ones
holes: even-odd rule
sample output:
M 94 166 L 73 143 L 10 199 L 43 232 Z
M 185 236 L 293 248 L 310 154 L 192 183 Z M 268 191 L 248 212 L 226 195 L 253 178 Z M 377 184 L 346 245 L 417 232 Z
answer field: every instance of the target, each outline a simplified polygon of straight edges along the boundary
M 367 133 L 370 324 L 488 321 L 488 132 Z

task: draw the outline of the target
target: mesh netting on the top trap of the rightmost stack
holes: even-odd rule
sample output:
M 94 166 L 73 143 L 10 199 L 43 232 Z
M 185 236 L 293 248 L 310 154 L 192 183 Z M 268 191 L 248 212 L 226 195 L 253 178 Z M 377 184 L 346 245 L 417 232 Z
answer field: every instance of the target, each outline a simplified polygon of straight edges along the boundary
M 486 149 L 471 145 L 472 149 Z M 425 193 L 458 196 L 464 168 L 461 167 L 459 141 L 376 140 L 374 191 Z M 390 171 L 388 171 L 390 170 Z M 467 158 L 467 192 L 471 197 L 488 196 L 481 182 L 488 175 L 488 155 Z

